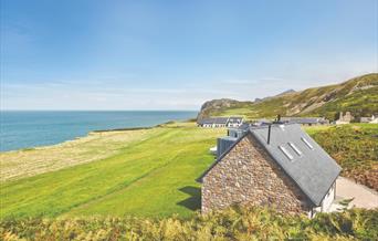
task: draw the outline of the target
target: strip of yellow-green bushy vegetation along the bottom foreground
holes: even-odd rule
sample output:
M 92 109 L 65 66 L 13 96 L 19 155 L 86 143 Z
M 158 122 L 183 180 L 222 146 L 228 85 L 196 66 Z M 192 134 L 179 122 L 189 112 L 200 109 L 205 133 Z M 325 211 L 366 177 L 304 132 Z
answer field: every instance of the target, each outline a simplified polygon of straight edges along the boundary
M 378 209 L 314 219 L 261 208 L 233 208 L 190 219 L 7 219 L 2 240 L 378 240 Z

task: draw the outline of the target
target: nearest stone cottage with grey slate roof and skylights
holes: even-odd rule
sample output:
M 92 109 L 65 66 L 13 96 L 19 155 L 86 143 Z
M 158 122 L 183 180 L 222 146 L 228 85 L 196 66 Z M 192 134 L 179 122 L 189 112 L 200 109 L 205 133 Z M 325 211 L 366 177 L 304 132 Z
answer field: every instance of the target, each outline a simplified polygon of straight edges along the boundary
M 232 205 L 327 211 L 342 168 L 297 124 L 249 128 L 199 178 L 201 210 Z

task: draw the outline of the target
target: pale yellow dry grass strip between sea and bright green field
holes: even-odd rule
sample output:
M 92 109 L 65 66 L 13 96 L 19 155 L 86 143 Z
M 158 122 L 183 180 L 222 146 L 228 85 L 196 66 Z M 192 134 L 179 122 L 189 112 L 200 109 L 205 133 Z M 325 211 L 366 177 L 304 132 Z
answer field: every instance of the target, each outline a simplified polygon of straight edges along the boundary
M 156 129 L 91 133 L 88 136 L 53 146 L 0 153 L 0 181 L 101 160 L 120 153 L 154 132 Z

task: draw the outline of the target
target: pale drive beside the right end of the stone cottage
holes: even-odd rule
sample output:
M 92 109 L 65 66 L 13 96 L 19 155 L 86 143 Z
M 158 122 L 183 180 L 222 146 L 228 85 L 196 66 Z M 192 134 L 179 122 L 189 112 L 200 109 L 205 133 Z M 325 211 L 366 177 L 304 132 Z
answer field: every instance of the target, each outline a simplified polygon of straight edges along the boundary
M 336 199 L 350 199 L 351 207 L 374 209 L 378 208 L 378 192 L 367 188 L 364 185 L 356 184 L 355 181 L 338 177 L 336 180 Z

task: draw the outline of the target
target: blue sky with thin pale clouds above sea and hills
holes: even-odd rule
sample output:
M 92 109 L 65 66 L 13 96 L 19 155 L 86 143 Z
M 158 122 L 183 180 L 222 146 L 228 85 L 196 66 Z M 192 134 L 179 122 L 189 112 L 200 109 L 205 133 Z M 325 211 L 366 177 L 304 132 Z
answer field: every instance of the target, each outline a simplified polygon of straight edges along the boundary
M 378 72 L 377 0 L 0 1 L 2 109 L 198 109 Z

